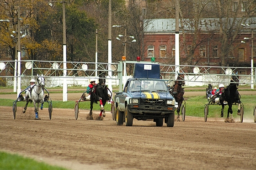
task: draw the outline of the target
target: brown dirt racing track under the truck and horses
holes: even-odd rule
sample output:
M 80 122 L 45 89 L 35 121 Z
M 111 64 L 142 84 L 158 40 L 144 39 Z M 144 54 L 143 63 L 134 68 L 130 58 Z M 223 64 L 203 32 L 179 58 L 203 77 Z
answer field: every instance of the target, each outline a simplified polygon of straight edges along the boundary
M 80 97 L 80 94 L 76 94 Z M 3 95 L 1 95 L 2 97 Z M 54 95 L 53 95 L 54 96 Z M 1 98 L 0 97 L 0 98 Z M 71 97 L 69 95 L 69 97 Z M 60 99 L 61 100 L 61 99 Z M 256 167 L 256 124 L 223 118 L 186 117 L 173 128 L 133 120 L 116 126 L 111 114 L 86 120 L 88 110 L 0 107 L 0 149 L 70 170 L 252 170 Z

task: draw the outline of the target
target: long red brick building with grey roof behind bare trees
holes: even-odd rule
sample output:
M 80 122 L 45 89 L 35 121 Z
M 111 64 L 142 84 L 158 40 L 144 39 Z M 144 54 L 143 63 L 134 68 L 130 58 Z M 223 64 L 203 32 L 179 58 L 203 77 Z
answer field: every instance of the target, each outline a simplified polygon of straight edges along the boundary
M 250 19 L 256 21 L 256 18 Z M 217 21 L 217 19 L 202 19 L 202 23 L 213 23 L 214 21 Z M 175 64 L 175 19 L 155 19 L 147 22 L 142 36 L 142 59 L 150 61 L 151 57 L 155 57 L 156 62 Z M 253 46 L 254 62 L 256 61 L 254 37 L 251 39 L 256 25 L 242 26 L 238 23 L 238 26 L 240 26 L 239 33 L 232 43 L 230 41 L 228 56 L 225 56 L 226 66 L 251 67 L 251 46 Z M 222 44 L 218 32 L 218 23 L 216 22 L 211 26 L 202 25 L 196 38 L 197 46 L 194 48 L 193 55 L 191 55 L 194 36 L 194 32 L 180 30 L 180 65 L 221 66 Z

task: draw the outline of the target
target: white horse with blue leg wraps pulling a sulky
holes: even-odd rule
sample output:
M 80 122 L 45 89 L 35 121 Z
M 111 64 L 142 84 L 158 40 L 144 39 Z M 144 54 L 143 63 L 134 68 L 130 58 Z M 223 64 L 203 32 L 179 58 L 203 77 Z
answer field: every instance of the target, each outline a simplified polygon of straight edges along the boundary
M 39 76 L 37 74 L 37 84 L 34 85 L 30 91 L 27 90 L 26 92 L 26 105 L 23 109 L 23 113 L 26 112 L 27 110 L 27 104 L 30 102 L 34 104 L 34 108 L 35 108 L 35 114 L 36 114 L 36 119 L 39 119 L 38 117 L 38 110 L 39 110 L 39 105 L 41 103 L 41 110 L 43 110 L 43 89 L 44 89 L 44 78 L 43 78 L 43 74 L 41 76 Z M 37 104 L 36 104 L 37 103 Z

